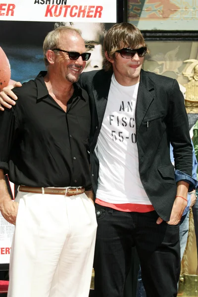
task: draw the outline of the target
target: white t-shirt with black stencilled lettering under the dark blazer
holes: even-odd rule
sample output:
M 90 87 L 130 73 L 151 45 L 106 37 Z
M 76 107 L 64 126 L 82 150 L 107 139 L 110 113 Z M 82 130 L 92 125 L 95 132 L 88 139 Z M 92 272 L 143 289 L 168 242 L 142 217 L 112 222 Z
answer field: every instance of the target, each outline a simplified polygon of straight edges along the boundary
M 111 85 L 96 146 L 99 179 L 96 197 L 108 203 L 150 205 L 139 175 L 135 108 L 139 83 Z

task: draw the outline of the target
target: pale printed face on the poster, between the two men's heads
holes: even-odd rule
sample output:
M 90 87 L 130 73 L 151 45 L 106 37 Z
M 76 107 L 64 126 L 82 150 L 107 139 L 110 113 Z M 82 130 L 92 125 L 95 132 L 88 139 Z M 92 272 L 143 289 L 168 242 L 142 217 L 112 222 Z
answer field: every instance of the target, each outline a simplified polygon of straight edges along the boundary
M 103 23 L 61 23 L 61 26 L 72 26 L 80 29 L 82 37 L 85 41 L 85 47 L 88 52 L 91 52 L 90 59 L 86 62 L 84 71 L 99 70 L 102 68 L 103 61 L 103 38 L 104 24 Z M 55 27 L 58 23 L 55 24 Z

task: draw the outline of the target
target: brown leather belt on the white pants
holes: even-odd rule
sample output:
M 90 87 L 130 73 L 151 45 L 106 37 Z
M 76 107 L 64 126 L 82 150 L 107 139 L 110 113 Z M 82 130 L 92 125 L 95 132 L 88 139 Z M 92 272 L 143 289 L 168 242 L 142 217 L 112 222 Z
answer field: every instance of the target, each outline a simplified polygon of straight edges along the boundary
M 51 194 L 51 195 L 65 195 L 65 196 L 74 196 L 83 194 L 85 192 L 85 188 L 36 188 L 36 187 L 27 187 L 27 186 L 19 186 L 18 189 L 20 192 L 27 193 L 37 193 L 37 194 Z

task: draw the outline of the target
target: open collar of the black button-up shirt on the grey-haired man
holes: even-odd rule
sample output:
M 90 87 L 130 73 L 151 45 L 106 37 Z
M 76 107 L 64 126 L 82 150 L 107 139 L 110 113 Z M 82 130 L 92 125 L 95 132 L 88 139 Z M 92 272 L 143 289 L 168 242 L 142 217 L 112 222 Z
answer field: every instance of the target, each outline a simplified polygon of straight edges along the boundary
M 44 81 L 44 76 L 46 76 L 46 74 L 47 74 L 47 71 L 41 71 L 35 78 L 36 85 L 37 85 L 37 100 L 40 100 L 49 96 L 49 92 Z M 74 86 L 73 96 L 79 96 L 84 101 L 87 101 L 89 99 L 87 92 L 80 87 L 79 83 L 74 83 L 73 86 Z

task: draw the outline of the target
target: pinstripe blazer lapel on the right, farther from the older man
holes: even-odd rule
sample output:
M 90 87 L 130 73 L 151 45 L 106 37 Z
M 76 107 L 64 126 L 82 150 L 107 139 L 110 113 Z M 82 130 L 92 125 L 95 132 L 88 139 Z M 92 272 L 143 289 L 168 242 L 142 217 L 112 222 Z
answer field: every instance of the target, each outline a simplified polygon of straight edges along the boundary
M 136 104 L 136 131 L 138 132 L 140 125 L 145 117 L 148 107 L 154 99 L 154 84 L 149 79 L 147 72 L 141 70 L 140 86 L 138 90 L 138 98 Z

